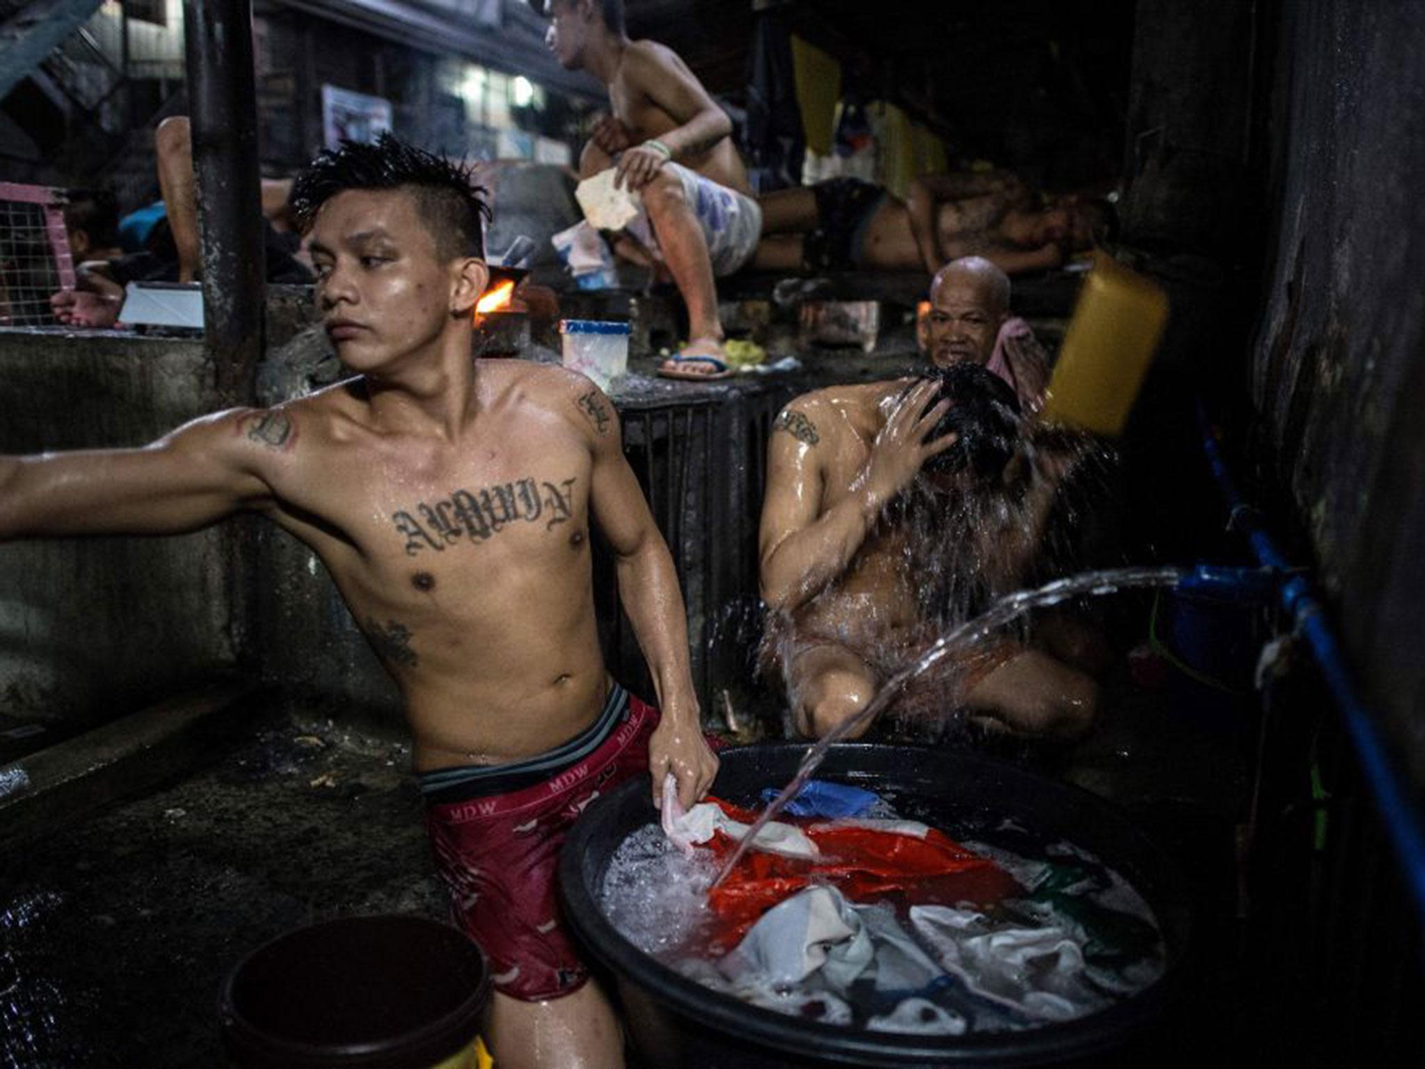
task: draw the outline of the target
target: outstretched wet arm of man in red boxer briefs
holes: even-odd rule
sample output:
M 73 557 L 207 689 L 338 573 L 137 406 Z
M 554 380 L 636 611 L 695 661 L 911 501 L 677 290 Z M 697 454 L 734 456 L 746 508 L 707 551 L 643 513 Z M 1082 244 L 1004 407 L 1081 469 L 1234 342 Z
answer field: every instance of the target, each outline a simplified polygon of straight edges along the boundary
M 234 409 L 141 449 L 0 458 L 0 542 L 63 534 L 177 534 L 272 493 L 264 453 L 295 440 L 281 410 Z

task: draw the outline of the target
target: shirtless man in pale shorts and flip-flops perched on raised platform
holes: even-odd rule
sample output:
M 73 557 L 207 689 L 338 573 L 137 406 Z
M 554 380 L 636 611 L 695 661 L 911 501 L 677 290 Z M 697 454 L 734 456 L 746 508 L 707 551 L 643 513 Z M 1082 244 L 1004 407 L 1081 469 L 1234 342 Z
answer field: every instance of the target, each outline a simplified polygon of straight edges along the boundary
M 663 371 L 674 378 L 727 372 L 714 277 L 757 248 L 761 211 L 732 144 L 732 121 L 678 56 L 624 33 L 623 0 L 530 0 L 551 23 L 547 43 L 569 70 L 608 87 L 611 115 L 594 128 L 580 178 L 617 165 L 616 181 L 643 198 L 630 224 L 657 245 L 688 308 L 688 345 Z M 616 162 L 617 161 L 617 162 Z M 620 249 L 627 249 L 623 239 Z

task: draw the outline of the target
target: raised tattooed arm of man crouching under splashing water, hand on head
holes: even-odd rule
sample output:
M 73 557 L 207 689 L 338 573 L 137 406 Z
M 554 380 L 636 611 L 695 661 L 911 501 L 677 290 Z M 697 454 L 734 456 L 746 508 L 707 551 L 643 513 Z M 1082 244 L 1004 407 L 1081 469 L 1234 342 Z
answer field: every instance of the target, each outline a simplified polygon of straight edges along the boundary
M 826 458 L 836 436 L 848 433 L 839 416 L 819 401 L 794 401 L 777 418 L 767 458 L 767 497 L 758 539 L 762 600 L 792 611 L 836 580 L 876 526 L 882 509 L 931 456 L 948 449 L 955 435 L 935 442 L 925 436 L 945 413 L 946 402 L 921 415 L 936 383 L 915 386 L 896 403 L 871 446 L 871 456 L 848 492 L 822 512 L 834 487 L 825 485 Z

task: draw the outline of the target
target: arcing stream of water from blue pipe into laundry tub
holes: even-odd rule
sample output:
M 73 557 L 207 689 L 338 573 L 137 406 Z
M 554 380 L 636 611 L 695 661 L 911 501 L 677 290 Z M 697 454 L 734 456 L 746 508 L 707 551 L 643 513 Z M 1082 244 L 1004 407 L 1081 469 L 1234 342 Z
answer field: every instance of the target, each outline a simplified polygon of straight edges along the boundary
M 1140 587 L 1173 587 L 1186 574 L 1186 569 L 1176 566 L 1120 567 L 1100 572 L 1083 572 L 1076 576 L 1056 579 L 1037 589 L 1016 590 L 1010 594 L 1005 594 L 975 619 L 966 620 L 958 627 L 950 629 L 931 643 L 911 664 L 886 680 L 865 708 L 855 716 L 842 720 L 807 751 L 807 755 L 802 758 L 802 763 L 797 770 L 797 775 L 794 775 L 782 792 L 778 794 L 765 810 L 762 810 L 757 821 L 752 824 L 751 831 L 742 838 L 728 857 L 727 862 L 722 865 L 721 871 L 717 874 L 717 878 L 712 881 L 712 887 L 717 887 L 732 871 L 732 867 L 737 865 L 742 854 L 747 852 L 748 845 L 757 838 L 757 832 L 775 820 L 787 802 L 795 798 L 801 788 L 805 787 L 807 781 L 811 780 L 817 768 L 821 767 L 822 758 L 826 755 L 826 751 L 832 747 L 832 744 L 869 725 L 892 701 L 895 701 L 895 698 L 911 681 L 929 671 L 946 656 L 972 649 L 976 643 L 982 643 L 985 639 L 992 636 L 998 629 L 1030 610 L 1046 609 L 1072 597 L 1110 594 L 1117 590 Z

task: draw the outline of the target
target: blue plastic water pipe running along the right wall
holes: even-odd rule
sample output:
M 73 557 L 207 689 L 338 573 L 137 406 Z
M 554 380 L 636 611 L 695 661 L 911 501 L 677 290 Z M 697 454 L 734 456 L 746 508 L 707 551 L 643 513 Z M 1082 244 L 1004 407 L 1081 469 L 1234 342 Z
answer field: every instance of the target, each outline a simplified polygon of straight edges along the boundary
M 1221 450 L 1217 448 L 1217 436 L 1207 418 L 1207 408 L 1203 405 L 1201 398 L 1197 401 L 1197 423 L 1203 433 L 1203 449 L 1207 453 L 1207 462 L 1211 465 L 1213 475 L 1223 487 L 1223 495 L 1227 497 L 1233 520 L 1235 526 L 1241 527 L 1247 533 L 1253 552 L 1257 554 L 1257 560 L 1263 566 L 1263 570 L 1206 570 L 1218 573 L 1235 572 L 1244 576 L 1251 576 L 1254 577 L 1251 579 L 1253 586 L 1260 582 L 1261 576 L 1275 576 L 1281 580 L 1281 604 L 1291 616 L 1297 631 L 1305 637 L 1307 644 L 1311 647 L 1311 653 L 1315 656 L 1317 667 L 1321 668 L 1321 674 L 1325 678 L 1327 686 L 1331 688 L 1331 694 L 1335 697 L 1337 706 L 1341 708 L 1341 714 L 1345 717 L 1347 731 L 1351 735 L 1351 741 L 1355 744 L 1355 753 L 1359 758 L 1361 770 L 1365 774 L 1365 781 L 1369 784 L 1371 792 L 1375 795 L 1375 804 L 1379 810 L 1381 821 L 1385 825 L 1391 842 L 1395 845 L 1395 852 L 1399 855 L 1401 868 L 1409 892 L 1415 899 L 1416 912 L 1419 914 L 1421 921 L 1425 922 L 1425 832 L 1421 830 L 1419 818 L 1415 807 L 1411 804 L 1409 792 L 1402 787 L 1399 775 L 1391 765 L 1389 757 L 1385 753 L 1385 743 L 1381 738 L 1379 728 L 1375 725 L 1375 720 L 1355 694 L 1355 687 L 1351 683 L 1351 674 L 1347 671 L 1345 660 L 1341 657 L 1341 649 L 1337 646 L 1335 636 L 1332 636 L 1331 630 L 1327 627 L 1325 609 L 1321 601 L 1317 600 L 1305 577 L 1292 573 L 1287 566 L 1285 559 L 1264 530 L 1260 513 L 1247 506 L 1238 493 L 1237 485 L 1233 482 L 1231 472 L 1227 470 L 1227 465 L 1223 460 Z M 1198 572 L 1203 570 L 1204 569 L 1198 569 Z M 1194 573 L 1194 576 L 1197 573 Z M 1193 576 L 1188 576 L 1184 583 L 1191 579 Z M 1208 576 L 1198 582 L 1216 582 L 1218 586 L 1226 586 L 1230 584 L 1231 576 Z

